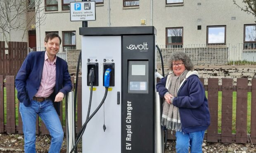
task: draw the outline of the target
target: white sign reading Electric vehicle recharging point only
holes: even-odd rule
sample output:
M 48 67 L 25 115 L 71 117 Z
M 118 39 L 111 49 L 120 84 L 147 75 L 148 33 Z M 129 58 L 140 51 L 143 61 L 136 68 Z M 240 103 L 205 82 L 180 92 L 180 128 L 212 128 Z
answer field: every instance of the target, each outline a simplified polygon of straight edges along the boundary
M 70 2 L 70 21 L 95 21 L 96 2 Z

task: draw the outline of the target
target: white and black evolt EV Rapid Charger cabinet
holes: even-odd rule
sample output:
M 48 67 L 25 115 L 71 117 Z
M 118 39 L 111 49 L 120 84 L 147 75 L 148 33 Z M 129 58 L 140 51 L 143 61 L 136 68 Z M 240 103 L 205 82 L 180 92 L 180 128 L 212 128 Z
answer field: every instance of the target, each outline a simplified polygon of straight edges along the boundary
M 159 153 L 156 138 L 156 29 L 144 27 L 80 28 L 82 35 L 82 122 L 90 97 L 98 107 L 109 81 L 104 105 L 87 124 L 83 153 Z M 108 75 L 108 76 L 105 76 Z M 90 78 L 91 79 L 91 78 Z M 161 144 L 161 143 L 160 143 Z

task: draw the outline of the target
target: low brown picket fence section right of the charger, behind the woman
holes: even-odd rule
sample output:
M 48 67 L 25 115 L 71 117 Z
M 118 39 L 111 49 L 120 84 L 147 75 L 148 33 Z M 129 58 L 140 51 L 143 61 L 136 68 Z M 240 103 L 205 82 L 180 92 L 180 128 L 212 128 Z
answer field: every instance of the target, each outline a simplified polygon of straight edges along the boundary
M 200 78 L 204 83 L 204 78 Z M 208 142 L 223 142 L 245 144 L 256 143 L 256 79 L 252 79 L 248 86 L 248 79 L 237 78 L 237 86 L 233 86 L 233 79 L 222 79 L 222 85 L 218 85 L 217 78 L 208 79 L 208 85 L 204 85 L 208 91 L 208 103 L 211 115 L 211 125 L 207 129 L 205 137 Z M 221 133 L 218 133 L 218 91 L 222 91 L 221 105 Z M 235 131 L 232 133 L 232 109 L 233 92 L 237 92 Z M 248 92 L 251 92 L 251 133 L 247 132 L 247 100 Z M 168 132 L 168 139 L 175 139 L 175 134 Z

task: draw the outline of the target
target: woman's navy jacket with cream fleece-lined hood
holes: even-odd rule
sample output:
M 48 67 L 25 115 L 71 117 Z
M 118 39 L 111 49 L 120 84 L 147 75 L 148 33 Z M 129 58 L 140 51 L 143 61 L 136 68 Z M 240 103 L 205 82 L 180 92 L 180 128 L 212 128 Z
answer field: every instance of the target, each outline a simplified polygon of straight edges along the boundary
M 170 75 L 173 72 L 170 72 Z M 160 97 L 168 92 L 166 88 L 167 76 L 156 84 Z M 173 105 L 179 107 L 182 132 L 196 132 L 206 130 L 210 125 L 210 112 L 204 86 L 199 80 L 197 71 L 189 71 L 180 83 L 178 96 L 173 99 Z

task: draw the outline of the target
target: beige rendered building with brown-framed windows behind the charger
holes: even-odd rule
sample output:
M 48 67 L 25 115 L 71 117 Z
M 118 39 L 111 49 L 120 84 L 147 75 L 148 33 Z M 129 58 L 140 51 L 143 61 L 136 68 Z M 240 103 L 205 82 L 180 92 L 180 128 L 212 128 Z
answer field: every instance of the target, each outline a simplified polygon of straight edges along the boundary
M 46 19 L 36 25 L 37 47 L 47 32 L 58 32 L 66 49 L 81 49 L 82 22 L 70 21 L 69 2 L 74 1 L 41 3 Z M 232 0 L 96 0 L 96 21 L 88 21 L 88 27 L 106 26 L 155 26 L 157 44 L 175 48 L 256 42 L 254 16 Z

